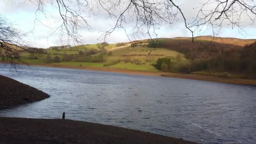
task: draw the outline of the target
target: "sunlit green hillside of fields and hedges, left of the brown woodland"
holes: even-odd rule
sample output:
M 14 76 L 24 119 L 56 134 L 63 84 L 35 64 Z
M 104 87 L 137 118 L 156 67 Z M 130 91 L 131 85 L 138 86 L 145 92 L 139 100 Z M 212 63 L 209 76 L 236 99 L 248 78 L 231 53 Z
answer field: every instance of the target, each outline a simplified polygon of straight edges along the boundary
M 187 60 L 184 54 L 176 51 L 165 48 L 157 48 L 155 51 L 154 48 L 148 48 L 144 45 L 131 47 L 127 43 L 104 46 L 102 44 L 79 45 L 60 49 L 48 48 L 35 55 L 26 52 L 21 52 L 20 55 L 21 61 L 28 64 L 109 67 L 142 71 L 157 70 L 154 64 L 160 57 L 176 59 L 179 55 L 181 61 Z

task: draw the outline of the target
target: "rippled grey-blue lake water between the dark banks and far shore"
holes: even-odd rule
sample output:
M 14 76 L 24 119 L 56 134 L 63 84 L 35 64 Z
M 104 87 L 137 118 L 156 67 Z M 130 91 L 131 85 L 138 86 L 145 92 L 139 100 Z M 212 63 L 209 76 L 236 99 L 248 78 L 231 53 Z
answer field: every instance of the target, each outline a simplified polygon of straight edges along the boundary
M 3 65 L 0 64 L 2 68 Z M 27 67 L 11 77 L 48 93 L 2 117 L 66 118 L 199 143 L 255 143 L 256 87 L 79 69 Z

